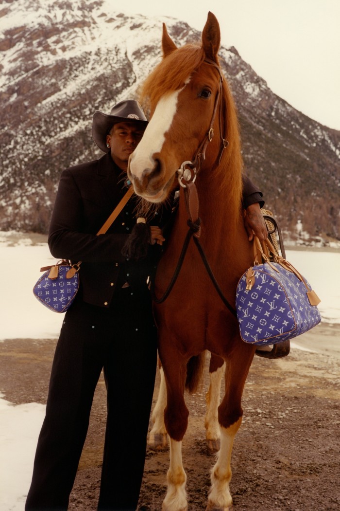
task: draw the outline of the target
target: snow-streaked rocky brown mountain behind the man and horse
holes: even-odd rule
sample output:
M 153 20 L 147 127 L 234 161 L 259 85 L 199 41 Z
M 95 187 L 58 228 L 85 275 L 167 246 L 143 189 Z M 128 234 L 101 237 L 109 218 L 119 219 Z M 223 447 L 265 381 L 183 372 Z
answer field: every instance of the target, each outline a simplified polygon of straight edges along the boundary
M 138 97 L 159 61 L 162 21 L 178 45 L 200 38 L 173 18 L 113 11 L 109 0 L 3 0 L 0 229 L 46 231 L 60 172 L 101 155 L 93 112 Z M 340 239 L 340 132 L 273 94 L 236 49 L 220 56 L 266 206 L 293 237 L 299 222 L 310 237 Z

